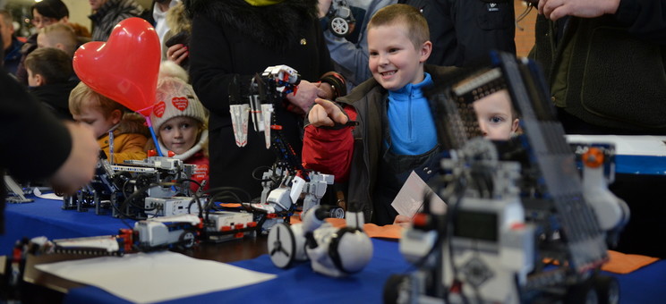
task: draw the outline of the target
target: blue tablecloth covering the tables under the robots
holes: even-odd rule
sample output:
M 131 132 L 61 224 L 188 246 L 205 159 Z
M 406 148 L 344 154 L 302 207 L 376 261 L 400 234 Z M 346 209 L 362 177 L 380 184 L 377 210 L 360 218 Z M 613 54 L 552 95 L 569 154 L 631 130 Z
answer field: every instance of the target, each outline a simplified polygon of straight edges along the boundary
M 115 234 L 127 227 L 110 215 L 95 215 L 93 210 L 79 213 L 62 210 L 62 202 L 39 199 L 34 203 L 8 205 L 5 210 L 6 234 L 0 237 L 2 254 L 9 254 L 21 237 L 44 235 L 49 239 Z M 132 221 L 127 224 L 133 225 Z M 312 272 L 303 263 L 280 269 L 268 256 L 232 263 L 235 266 L 277 274 L 268 282 L 230 291 L 219 291 L 166 303 L 381 303 L 384 283 L 390 274 L 406 274 L 411 267 L 397 249 L 397 241 L 372 240 L 371 263 L 363 272 L 346 278 L 330 278 Z M 224 275 L 224 274 L 220 274 Z M 666 261 L 659 260 L 631 274 L 611 274 L 619 279 L 620 303 L 653 303 L 666 299 Z M 175 280 L 187 280 L 179 277 Z M 75 288 L 65 303 L 126 303 L 95 287 Z

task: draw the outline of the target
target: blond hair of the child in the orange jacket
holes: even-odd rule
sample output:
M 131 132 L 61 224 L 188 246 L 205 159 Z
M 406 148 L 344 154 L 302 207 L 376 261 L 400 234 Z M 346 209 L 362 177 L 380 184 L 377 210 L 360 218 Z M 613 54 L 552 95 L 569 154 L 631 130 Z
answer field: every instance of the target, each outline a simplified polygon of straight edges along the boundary
M 83 108 L 86 106 L 97 107 L 105 117 L 109 117 L 115 110 L 120 110 L 121 113 L 127 112 L 127 109 L 123 105 L 90 89 L 89 86 L 81 81 L 74 87 L 72 93 L 70 93 L 70 112 L 73 115 L 81 114 Z

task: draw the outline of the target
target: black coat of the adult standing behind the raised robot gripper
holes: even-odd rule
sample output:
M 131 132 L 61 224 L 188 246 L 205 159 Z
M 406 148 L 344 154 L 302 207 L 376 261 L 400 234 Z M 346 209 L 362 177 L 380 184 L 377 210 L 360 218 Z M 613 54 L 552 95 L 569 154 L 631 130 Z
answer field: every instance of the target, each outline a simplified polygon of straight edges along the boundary
M 286 64 L 303 80 L 319 80 L 332 71 L 329 50 L 316 17 L 317 0 L 290 0 L 252 6 L 243 0 L 185 1 L 192 16 L 190 73 L 192 86 L 210 111 L 210 186 L 233 186 L 260 194 L 252 172 L 272 165 L 263 133 L 248 131 L 248 144 L 235 145 L 229 114 L 228 87 L 235 75 L 243 81 L 269 66 Z M 277 108 L 277 122 L 296 153 L 302 148 L 303 117 Z M 254 174 L 260 177 L 261 172 Z

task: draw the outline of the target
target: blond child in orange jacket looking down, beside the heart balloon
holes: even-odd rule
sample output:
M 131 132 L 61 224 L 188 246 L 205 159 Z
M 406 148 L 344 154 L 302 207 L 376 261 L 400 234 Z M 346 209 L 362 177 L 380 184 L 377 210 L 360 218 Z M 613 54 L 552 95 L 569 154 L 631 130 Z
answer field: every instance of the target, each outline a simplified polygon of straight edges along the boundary
M 107 154 L 113 164 L 124 164 L 127 159 L 145 159 L 143 149 L 149 131 L 140 114 L 125 113 L 124 106 L 79 83 L 70 94 L 69 107 L 77 122 L 90 124 L 98 139 L 99 148 Z M 113 132 L 113 146 L 109 132 Z

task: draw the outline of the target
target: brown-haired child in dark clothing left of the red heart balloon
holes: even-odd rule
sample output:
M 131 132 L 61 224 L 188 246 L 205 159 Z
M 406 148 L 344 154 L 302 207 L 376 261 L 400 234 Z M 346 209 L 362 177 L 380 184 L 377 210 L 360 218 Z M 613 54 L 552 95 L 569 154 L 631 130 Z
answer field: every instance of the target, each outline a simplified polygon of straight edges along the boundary
M 28 90 L 58 118 L 72 120 L 68 97 L 78 81 L 73 75 L 72 56 L 52 48 L 38 48 L 25 58 Z

